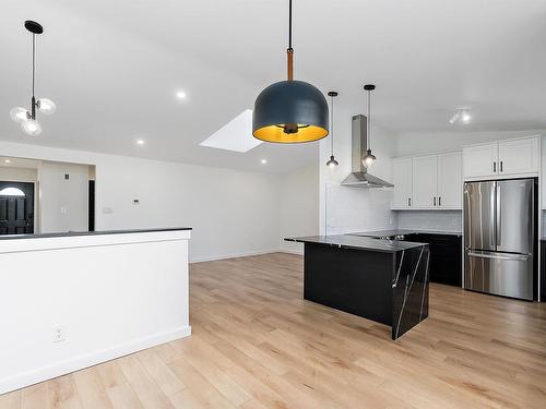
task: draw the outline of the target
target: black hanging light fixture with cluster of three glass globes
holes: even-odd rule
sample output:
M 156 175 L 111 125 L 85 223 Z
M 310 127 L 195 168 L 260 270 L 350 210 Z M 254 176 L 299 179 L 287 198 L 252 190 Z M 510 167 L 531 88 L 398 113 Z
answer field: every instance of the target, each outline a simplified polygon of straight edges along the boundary
M 44 27 L 40 24 L 33 22 L 31 20 L 25 21 L 25 28 L 32 35 L 32 98 L 31 98 L 31 110 L 22 107 L 13 108 L 10 111 L 10 117 L 14 122 L 21 123 L 21 128 L 28 135 L 39 135 L 41 132 L 41 127 L 36 121 L 36 109 L 45 115 L 51 115 L 55 112 L 57 107 L 51 99 L 40 98 L 36 99 L 34 95 L 34 83 L 36 81 L 36 34 L 44 33 Z

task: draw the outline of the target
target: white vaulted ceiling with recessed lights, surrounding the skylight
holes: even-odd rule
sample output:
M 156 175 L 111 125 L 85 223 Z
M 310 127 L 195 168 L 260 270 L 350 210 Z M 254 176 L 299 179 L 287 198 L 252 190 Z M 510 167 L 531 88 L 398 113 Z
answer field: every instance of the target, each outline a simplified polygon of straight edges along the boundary
M 317 144 L 199 146 L 284 77 L 287 3 L 2 0 L 0 139 L 257 171 L 314 160 Z M 8 115 L 29 93 L 28 19 L 45 27 L 37 94 L 58 105 L 35 139 Z M 376 123 L 396 133 L 461 131 L 456 106 L 473 108 L 464 130 L 545 129 L 545 21 L 544 0 L 294 0 L 295 76 L 349 112 L 376 83 Z

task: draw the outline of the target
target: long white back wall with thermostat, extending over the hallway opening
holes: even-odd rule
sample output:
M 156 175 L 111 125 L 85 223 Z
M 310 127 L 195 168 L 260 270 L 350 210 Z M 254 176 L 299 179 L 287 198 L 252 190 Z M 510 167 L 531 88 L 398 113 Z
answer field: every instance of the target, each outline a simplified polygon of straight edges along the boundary
M 0 152 L 96 165 L 97 230 L 192 227 L 193 262 L 280 248 L 278 176 L 9 142 Z

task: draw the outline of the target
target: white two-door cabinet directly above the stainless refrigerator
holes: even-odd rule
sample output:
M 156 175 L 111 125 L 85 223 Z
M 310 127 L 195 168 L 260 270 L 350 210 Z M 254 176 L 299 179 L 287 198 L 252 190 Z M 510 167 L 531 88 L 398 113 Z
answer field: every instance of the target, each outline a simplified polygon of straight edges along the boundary
M 539 170 L 538 137 L 521 137 L 463 149 L 465 178 L 503 178 L 537 173 Z

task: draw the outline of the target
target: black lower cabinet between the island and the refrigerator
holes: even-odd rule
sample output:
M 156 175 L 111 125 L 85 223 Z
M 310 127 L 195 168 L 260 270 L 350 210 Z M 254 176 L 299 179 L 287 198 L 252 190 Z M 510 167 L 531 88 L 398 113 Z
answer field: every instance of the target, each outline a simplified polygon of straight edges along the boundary
M 406 241 L 428 243 L 431 282 L 462 286 L 462 237 L 455 234 L 411 233 Z

